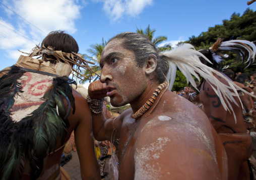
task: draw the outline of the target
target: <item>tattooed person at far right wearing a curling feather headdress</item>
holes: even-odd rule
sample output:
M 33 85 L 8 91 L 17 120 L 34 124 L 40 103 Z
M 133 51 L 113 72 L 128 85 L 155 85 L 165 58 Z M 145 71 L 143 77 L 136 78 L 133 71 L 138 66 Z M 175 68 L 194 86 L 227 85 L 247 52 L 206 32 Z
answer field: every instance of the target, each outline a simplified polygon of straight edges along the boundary
M 245 40 L 222 42 L 222 39 L 219 38 L 209 50 L 199 51 L 212 61 L 212 64 L 206 62 L 208 66 L 220 71 L 219 63 L 223 61 L 223 51 L 234 52 L 237 55 L 235 62 L 242 59 L 244 63 L 246 62 L 249 65 L 254 61 L 256 47 L 253 43 Z M 225 86 L 229 87 L 227 80 L 217 74 L 214 74 L 214 76 Z M 228 179 L 250 179 L 247 160 L 252 152 L 252 141 L 245 126 L 242 102 L 238 97 L 234 97 L 233 101 L 225 99 L 224 102 L 221 102 L 220 95 L 218 95 L 221 92 L 215 91 L 214 88 L 215 85 L 203 81 L 200 99 L 204 105 L 207 117 L 213 124 L 225 147 L 228 158 Z M 236 90 L 231 90 L 232 93 L 234 91 Z M 241 92 L 240 94 L 245 93 Z M 229 109 L 233 109 L 233 113 L 228 111 L 223 103 L 228 104 Z

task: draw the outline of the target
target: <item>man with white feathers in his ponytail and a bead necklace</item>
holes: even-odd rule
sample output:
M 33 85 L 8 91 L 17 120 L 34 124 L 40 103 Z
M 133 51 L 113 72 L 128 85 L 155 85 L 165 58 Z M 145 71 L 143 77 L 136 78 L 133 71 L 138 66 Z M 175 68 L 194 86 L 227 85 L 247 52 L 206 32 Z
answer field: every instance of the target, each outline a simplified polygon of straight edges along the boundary
M 159 54 L 146 36 L 131 32 L 116 35 L 105 46 L 101 82 L 89 85 L 87 100 L 95 138 L 119 138 L 119 167 L 114 155 L 110 159 L 114 179 L 227 179 L 226 153 L 207 116 L 170 91 L 176 67 L 216 80 L 200 62 L 203 55 L 191 48 L 185 44 Z M 97 112 L 98 101 L 106 96 L 114 106 L 130 103 L 132 108 L 106 119 Z

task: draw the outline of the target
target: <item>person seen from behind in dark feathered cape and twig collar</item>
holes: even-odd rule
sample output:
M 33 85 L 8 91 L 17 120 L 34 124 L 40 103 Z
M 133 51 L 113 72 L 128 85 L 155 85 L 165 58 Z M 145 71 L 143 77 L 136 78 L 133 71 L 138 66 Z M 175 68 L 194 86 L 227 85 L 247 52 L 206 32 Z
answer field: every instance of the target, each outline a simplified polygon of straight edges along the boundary
M 51 32 L 0 78 L 0 179 L 65 179 L 60 157 L 74 129 L 82 178 L 100 179 L 91 112 L 68 78 L 91 70 L 78 51 L 72 36 Z

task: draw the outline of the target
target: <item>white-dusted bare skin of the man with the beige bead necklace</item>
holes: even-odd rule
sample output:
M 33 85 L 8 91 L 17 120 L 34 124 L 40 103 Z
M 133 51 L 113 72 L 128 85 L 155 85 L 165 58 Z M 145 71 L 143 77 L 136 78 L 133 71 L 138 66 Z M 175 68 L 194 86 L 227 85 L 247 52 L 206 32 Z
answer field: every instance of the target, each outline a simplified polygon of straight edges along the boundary
M 119 179 L 226 179 L 226 154 L 218 134 L 204 112 L 183 97 L 163 89 L 150 115 L 131 118 L 160 84 L 154 77 L 157 60 L 151 55 L 139 68 L 134 53 L 121 44 L 112 40 L 106 45 L 101 82 L 91 83 L 88 90 L 91 98 L 109 96 L 113 106 L 131 104 L 117 118 L 92 113 L 97 140 L 119 138 Z

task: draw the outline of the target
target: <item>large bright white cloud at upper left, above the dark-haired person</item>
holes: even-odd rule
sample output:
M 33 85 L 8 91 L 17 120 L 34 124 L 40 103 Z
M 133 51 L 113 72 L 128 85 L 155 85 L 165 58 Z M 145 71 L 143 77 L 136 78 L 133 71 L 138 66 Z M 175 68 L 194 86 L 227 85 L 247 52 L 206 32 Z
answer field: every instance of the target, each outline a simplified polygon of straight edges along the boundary
M 0 49 L 16 60 L 18 49 L 30 52 L 51 31 L 75 33 L 75 20 L 86 6 L 84 0 L 5 0 L 3 4 L 18 15 L 5 8 L 8 21 L 0 18 Z

